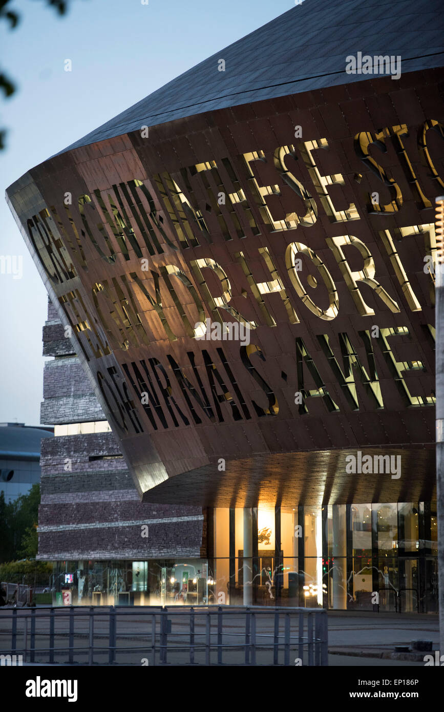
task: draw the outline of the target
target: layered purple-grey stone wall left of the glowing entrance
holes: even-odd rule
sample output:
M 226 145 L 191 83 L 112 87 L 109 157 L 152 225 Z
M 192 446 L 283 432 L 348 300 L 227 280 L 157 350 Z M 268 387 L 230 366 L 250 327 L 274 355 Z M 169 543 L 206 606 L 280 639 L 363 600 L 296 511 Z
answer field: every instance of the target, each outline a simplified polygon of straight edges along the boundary
M 45 364 L 41 422 L 105 421 L 51 301 L 43 355 L 54 359 Z M 41 560 L 206 555 L 202 509 L 142 503 L 112 432 L 43 440 L 41 494 Z

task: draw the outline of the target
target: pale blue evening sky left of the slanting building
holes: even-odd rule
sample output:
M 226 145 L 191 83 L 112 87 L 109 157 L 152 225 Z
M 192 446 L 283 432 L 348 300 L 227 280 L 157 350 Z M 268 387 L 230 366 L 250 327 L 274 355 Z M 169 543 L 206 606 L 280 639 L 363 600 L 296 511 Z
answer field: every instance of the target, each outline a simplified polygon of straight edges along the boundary
M 310 1 L 310 0 L 309 0 Z M 294 6 L 292 0 L 71 0 L 59 18 L 43 0 L 16 0 L 21 23 L 0 25 L 4 190 L 31 167 L 169 80 Z M 73 63 L 65 72 L 65 59 Z M 0 422 L 40 422 L 47 297 L 4 199 L 0 255 L 23 256 L 23 277 L 0 274 Z

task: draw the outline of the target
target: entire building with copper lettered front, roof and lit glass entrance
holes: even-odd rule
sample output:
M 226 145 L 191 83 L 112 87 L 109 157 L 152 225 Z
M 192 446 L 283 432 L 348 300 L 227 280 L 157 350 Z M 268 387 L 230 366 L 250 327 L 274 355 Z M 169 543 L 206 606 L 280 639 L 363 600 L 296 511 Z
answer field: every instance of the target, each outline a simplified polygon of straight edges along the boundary
M 379 14 L 295 6 L 8 189 L 72 349 L 41 555 L 100 560 L 91 595 L 436 608 L 442 19 Z M 182 511 L 195 562 L 150 528 Z

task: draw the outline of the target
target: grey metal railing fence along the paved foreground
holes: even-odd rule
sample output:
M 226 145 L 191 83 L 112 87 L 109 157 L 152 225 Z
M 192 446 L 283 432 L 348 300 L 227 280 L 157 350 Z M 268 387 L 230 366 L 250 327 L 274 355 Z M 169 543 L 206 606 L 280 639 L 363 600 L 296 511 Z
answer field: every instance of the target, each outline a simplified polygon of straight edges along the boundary
M 327 611 L 277 607 L 0 609 L 1 654 L 83 665 L 327 665 Z

